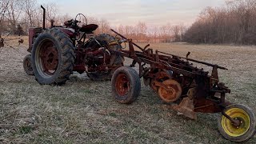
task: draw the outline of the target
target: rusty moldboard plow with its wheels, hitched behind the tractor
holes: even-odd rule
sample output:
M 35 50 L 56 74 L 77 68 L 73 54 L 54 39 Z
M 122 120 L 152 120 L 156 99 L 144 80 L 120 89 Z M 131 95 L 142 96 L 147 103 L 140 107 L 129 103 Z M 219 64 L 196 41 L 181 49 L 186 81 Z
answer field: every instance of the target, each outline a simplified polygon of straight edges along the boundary
M 224 138 L 244 142 L 254 137 L 254 112 L 247 106 L 226 101 L 230 89 L 218 78 L 218 69 L 227 70 L 225 67 L 188 58 L 190 52 L 186 58 L 182 58 L 149 49 L 150 45 L 142 48 L 131 39 L 112 31 L 122 38 L 117 43 L 129 43 L 129 50 L 115 53 L 133 59 L 130 67 L 122 66 L 112 76 L 112 93 L 118 102 L 134 102 L 139 95 L 140 78 L 143 78 L 144 84 L 150 86 L 163 102 L 176 103 L 171 107 L 186 117 L 196 119 L 197 112 L 221 113 L 218 129 Z M 134 50 L 134 46 L 140 51 Z M 210 66 L 211 74 L 190 62 Z M 131 68 L 137 63 L 138 73 Z

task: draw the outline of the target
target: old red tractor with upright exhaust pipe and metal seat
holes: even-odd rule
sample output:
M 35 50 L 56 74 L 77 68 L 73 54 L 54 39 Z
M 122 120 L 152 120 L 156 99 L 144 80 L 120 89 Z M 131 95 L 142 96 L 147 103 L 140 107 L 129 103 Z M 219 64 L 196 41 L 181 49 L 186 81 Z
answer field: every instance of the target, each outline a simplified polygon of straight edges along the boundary
M 73 71 L 86 72 L 91 80 L 103 81 L 110 80 L 114 70 L 123 66 L 124 58 L 110 53 L 122 48 L 116 38 L 109 34 L 86 38 L 98 26 L 87 24 L 83 14 L 64 22 L 64 26 L 54 26 L 51 21 L 50 28 L 46 29 L 46 10 L 41 7 L 42 28 L 30 28 L 28 51 L 31 54 L 23 61 L 26 74 L 34 75 L 40 84 L 62 85 Z M 83 18 L 84 22 L 78 18 Z

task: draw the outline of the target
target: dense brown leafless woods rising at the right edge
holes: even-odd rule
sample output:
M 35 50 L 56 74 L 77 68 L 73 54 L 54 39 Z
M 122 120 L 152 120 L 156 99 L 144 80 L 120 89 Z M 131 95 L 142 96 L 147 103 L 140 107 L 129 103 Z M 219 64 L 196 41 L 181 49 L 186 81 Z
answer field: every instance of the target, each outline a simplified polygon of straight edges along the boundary
M 186 31 L 193 43 L 256 44 L 256 1 L 226 1 L 221 8 L 206 8 Z

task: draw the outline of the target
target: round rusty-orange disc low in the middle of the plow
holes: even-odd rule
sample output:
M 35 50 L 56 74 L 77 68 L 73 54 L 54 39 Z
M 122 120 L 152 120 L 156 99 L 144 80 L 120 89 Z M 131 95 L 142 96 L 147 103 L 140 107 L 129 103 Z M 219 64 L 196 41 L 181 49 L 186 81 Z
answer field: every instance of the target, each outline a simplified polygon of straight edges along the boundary
M 162 84 L 166 87 L 159 87 L 158 95 L 164 102 L 175 102 L 182 95 L 182 86 L 173 79 L 168 79 Z

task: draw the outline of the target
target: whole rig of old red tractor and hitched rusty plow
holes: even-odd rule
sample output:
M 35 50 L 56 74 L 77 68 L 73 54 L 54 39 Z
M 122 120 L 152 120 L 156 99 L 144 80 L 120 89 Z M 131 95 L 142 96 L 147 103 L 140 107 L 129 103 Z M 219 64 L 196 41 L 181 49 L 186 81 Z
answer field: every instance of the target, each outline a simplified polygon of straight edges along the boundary
M 111 30 L 115 37 L 99 34 L 88 38 L 98 26 L 87 24 L 83 14 L 64 22 L 64 26 L 51 22 L 46 28 L 42 9 L 43 26 L 30 29 L 31 54 L 23 61 L 26 74 L 34 75 L 38 83 L 63 85 L 73 71 L 86 72 L 94 81 L 111 80 L 115 100 L 130 104 L 137 100 L 144 82 L 163 102 L 188 118 L 197 119 L 198 112 L 219 113 L 218 130 L 224 138 L 244 142 L 254 137 L 254 112 L 226 100 L 230 89 L 218 77 L 218 70 L 226 67 L 189 58 L 190 52 L 181 57 L 153 50 L 150 45 L 141 47 L 115 30 Z M 130 66 L 124 66 L 125 58 L 133 60 Z M 209 66 L 211 72 L 194 64 Z

